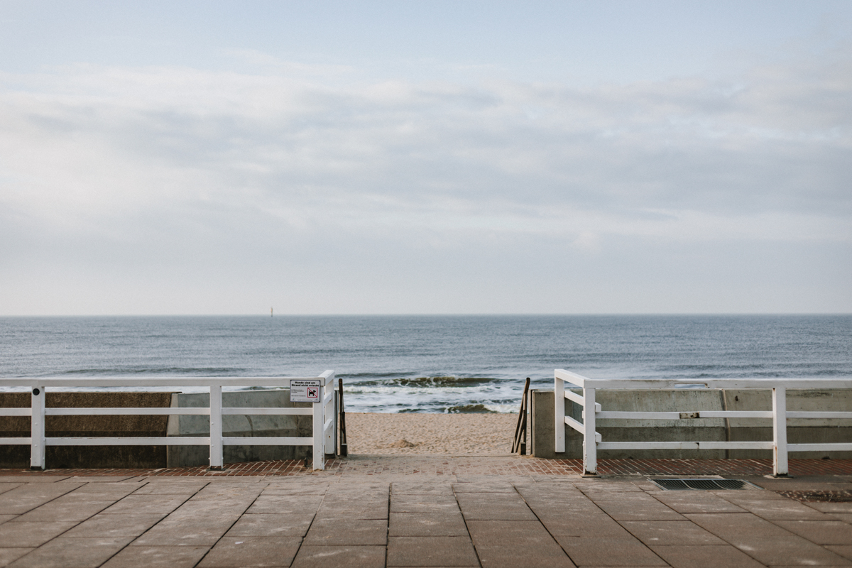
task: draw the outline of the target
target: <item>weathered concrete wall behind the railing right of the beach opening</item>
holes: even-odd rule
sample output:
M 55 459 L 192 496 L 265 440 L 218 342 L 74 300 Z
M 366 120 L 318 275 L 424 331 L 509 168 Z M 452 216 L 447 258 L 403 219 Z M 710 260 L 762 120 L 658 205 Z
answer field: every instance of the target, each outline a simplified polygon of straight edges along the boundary
M 575 392 L 581 392 L 576 390 Z M 554 450 L 555 422 L 553 391 L 536 390 L 531 396 L 533 456 L 580 458 L 583 436 L 565 427 L 566 451 Z M 772 410 L 770 391 L 722 389 L 598 390 L 596 400 L 602 410 L 694 411 L 694 410 Z M 570 410 L 568 410 L 570 409 Z M 852 410 L 852 391 L 787 391 L 787 410 Z M 566 411 L 582 422 L 579 404 L 566 400 Z M 746 441 L 771 440 L 770 419 L 699 418 L 685 420 L 598 420 L 597 431 L 607 442 L 616 441 Z M 795 419 L 787 422 L 787 440 L 795 443 L 852 441 L 852 420 Z M 771 450 L 598 450 L 602 458 L 771 458 Z M 849 458 L 850 451 L 790 452 L 790 457 Z

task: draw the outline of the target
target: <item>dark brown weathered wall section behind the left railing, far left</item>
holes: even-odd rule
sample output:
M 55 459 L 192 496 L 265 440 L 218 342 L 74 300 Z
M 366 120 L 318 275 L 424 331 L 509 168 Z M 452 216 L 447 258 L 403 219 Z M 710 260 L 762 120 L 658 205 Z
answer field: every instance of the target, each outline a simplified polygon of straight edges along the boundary
M 0 407 L 28 408 L 30 393 L 0 393 Z M 49 408 L 162 408 L 171 393 L 47 393 Z M 66 437 L 165 436 L 168 416 L 47 416 L 45 432 Z M 29 416 L 0 416 L 0 438 L 29 438 Z M 50 468 L 164 468 L 165 446 L 48 446 Z M 0 468 L 28 468 L 29 445 L 0 445 Z

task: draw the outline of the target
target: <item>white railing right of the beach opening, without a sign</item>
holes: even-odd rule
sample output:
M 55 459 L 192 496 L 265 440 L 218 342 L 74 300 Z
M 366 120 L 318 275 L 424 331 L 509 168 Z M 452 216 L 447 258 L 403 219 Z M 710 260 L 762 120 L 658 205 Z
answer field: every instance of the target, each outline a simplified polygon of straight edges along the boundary
M 573 393 L 565 383 L 576 385 L 583 393 Z M 707 388 L 738 388 L 772 391 L 772 410 L 692 410 L 683 412 L 607 412 L 595 402 L 596 389 L 662 389 L 683 385 L 704 385 Z M 774 450 L 773 471 L 785 476 L 787 452 L 852 450 L 852 443 L 787 444 L 787 419 L 791 418 L 849 418 L 852 412 L 788 412 L 787 389 L 843 389 L 852 388 L 850 379 L 714 379 L 711 381 L 672 379 L 590 379 L 571 371 L 557 369 L 554 374 L 554 401 L 556 416 L 556 452 L 565 451 L 565 425 L 583 434 L 583 470 L 587 475 L 597 473 L 597 450 Z M 583 422 L 565 416 L 565 399 L 583 408 Z M 589 412 L 594 409 L 593 412 Z M 765 442 L 604 442 L 596 432 L 598 419 L 610 420 L 679 420 L 692 418 L 771 418 L 772 441 Z

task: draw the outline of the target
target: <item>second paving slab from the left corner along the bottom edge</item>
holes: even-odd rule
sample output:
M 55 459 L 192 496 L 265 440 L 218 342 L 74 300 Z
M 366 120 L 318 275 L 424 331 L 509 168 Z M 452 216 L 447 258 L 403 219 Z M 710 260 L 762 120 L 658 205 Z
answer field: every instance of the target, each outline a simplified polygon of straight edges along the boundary
M 55 538 L 14 562 L 14 568 L 95 568 L 127 546 L 132 539 Z

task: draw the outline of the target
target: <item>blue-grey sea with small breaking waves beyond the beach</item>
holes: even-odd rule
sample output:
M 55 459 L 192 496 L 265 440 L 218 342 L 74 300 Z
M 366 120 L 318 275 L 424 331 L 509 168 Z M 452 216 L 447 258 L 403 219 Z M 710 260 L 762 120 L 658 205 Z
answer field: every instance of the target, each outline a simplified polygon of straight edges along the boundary
M 0 318 L 0 376 L 317 376 L 351 412 L 516 412 L 525 379 L 852 377 L 852 315 Z M 187 392 L 191 388 L 185 389 Z

